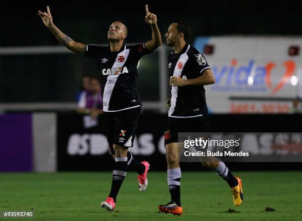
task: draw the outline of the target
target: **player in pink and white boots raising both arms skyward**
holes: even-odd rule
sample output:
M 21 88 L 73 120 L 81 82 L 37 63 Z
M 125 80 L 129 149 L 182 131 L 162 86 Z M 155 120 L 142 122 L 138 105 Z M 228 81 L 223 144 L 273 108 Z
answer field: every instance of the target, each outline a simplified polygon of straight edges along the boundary
M 107 125 L 107 139 L 114 157 L 111 192 L 101 203 L 102 208 L 113 212 L 116 196 L 127 173 L 127 166 L 138 172 L 140 191 L 147 188 L 149 163 L 135 160 L 128 148 L 133 146 L 137 129 L 141 100 L 136 88 L 137 64 L 142 56 L 151 53 L 161 45 L 157 18 L 146 5 L 145 22 L 151 26 L 152 39 L 137 45 L 125 45 L 127 27 L 113 22 L 107 32 L 109 45 L 82 44 L 61 32 L 53 23 L 49 7 L 47 13 L 38 11 L 44 25 L 69 50 L 96 59 L 99 66 L 103 93 L 103 111 Z

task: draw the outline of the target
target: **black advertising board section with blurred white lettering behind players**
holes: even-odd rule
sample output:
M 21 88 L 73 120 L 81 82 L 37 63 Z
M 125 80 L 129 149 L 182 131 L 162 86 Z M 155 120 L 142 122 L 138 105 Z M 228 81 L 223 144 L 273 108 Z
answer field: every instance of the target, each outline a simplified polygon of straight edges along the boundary
M 142 114 L 134 147 L 131 153 L 138 160 L 148 160 L 152 170 L 166 170 L 163 131 L 167 116 Z M 210 115 L 212 131 L 215 132 L 276 132 L 275 122 L 282 132 L 299 132 L 297 124 L 301 115 Z M 102 117 L 99 126 L 84 129 L 82 116 L 58 114 L 57 117 L 57 166 L 65 170 L 111 170 L 113 160 L 108 153 Z M 281 132 L 281 131 L 278 131 Z M 102 147 L 97 147 L 98 142 Z M 200 163 L 181 163 L 185 170 L 201 170 Z M 301 169 L 301 163 L 230 162 L 229 167 L 241 170 L 287 170 Z

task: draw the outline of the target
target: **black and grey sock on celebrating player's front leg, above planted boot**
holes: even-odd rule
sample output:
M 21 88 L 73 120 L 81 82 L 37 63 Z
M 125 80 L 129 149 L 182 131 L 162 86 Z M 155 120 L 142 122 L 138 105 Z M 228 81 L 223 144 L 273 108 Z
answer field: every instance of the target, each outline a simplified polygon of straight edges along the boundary
M 113 178 L 111 191 L 109 196 L 113 198 L 114 202 L 116 202 L 117 193 L 124 181 L 124 178 L 127 173 L 127 158 L 114 158 L 114 169 L 113 169 Z

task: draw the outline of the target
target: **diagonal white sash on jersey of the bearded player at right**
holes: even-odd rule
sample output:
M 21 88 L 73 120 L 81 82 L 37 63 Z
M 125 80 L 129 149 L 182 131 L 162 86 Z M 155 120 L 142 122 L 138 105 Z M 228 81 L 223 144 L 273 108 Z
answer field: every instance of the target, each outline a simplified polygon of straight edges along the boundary
M 190 48 L 190 45 L 188 45 L 188 48 L 187 48 L 186 52 L 184 54 L 182 54 L 180 56 L 180 58 L 178 59 L 176 65 L 175 65 L 175 68 L 174 68 L 174 72 L 173 72 L 174 77 L 182 75 L 185 64 L 187 63 L 187 61 L 189 59 L 189 56 L 187 55 L 187 52 L 188 52 L 189 48 Z M 179 63 L 182 63 L 182 68 L 178 68 Z M 176 105 L 176 99 L 177 99 L 177 91 L 178 91 L 177 86 L 172 87 L 172 90 L 171 90 L 171 95 L 172 95 L 172 97 L 171 97 L 171 107 L 170 107 L 169 113 L 168 113 L 169 117 L 171 117 L 171 115 L 174 112 L 174 108 L 175 108 L 175 105 Z

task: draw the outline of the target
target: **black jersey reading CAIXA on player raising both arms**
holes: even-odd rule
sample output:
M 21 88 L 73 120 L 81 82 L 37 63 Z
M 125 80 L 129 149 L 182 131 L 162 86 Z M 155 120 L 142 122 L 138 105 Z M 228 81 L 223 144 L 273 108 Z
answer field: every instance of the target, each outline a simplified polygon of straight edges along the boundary
M 104 111 L 121 111 L 142 106 L 136 87 L 137 64 L 148 53 L 150 52 L 145 44 L 123 44 L 118 52 L 112 52 L 110 46 L 85 46 L 84 55 L 98 62 Z

